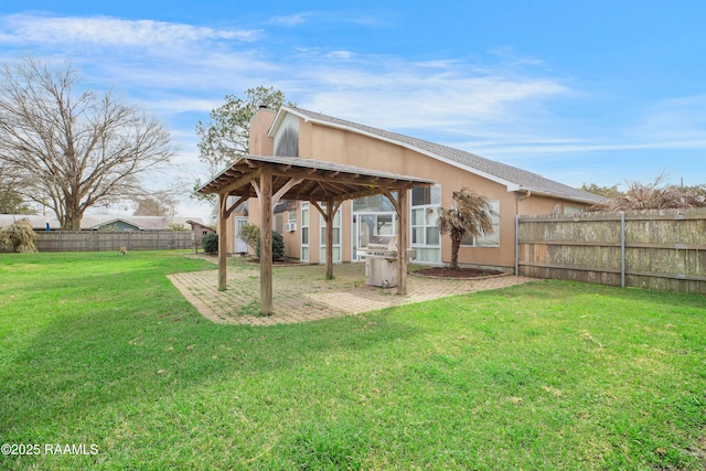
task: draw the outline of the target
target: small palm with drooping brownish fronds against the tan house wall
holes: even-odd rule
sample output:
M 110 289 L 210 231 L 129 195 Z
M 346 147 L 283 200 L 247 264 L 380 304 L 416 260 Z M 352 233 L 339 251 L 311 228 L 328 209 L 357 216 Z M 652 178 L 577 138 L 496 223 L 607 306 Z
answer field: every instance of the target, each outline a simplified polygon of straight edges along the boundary
M 451 236 L 451 265 L 459 268 L 459 248 L 467 235 L 480 237 L 493 234 L 493 207 L 484 196 L 468 186 L 453 192 L 453 206 L 439 207 L 439 232 Z

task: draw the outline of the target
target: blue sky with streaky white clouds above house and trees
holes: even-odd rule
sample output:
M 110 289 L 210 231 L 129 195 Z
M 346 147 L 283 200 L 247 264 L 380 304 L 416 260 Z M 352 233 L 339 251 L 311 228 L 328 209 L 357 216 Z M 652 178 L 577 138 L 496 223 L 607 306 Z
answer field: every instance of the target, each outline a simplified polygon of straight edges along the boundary
M 139 100 L 180 143 L 184 184 L 204 176 L 196 122 L 266 85 L 574 186 L 691 185 L 706 183 L 705 22 L 698 0 L 3 0 L 0 61 L 68 60 Z

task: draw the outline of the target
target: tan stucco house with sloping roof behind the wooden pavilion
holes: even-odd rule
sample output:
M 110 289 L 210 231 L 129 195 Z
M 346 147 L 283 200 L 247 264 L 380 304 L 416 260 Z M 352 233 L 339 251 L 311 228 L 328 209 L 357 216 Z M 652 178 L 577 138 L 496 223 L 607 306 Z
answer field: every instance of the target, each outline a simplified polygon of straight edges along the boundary
M 250 153 L 309 158 L 435 180 L 437 185 L 415 189 L 410 194 L 409 242 L 416 261 L 424 264 L 450 260 L 451 242 L 440 236 L 436 211 L 450 207 L 452 192 L 463 186 L 485 196 L 498 216 L 493 217 L 494 234 L 463 242 L 459 253 L 462 265 L 514 267 L 516 215 L 582 212 L 603 201 L 459 149 L 286 106 L 278 113 L 260 109 L 252 119 Z M 256 202 L 238 210 L 228 223 L 228 253 L 247 250 L 235 235 L 243 224 L 259 222 Z M 341 206 L 334 225 L 334 261 L 359 261 L 357 249 L 365 247 L 371 236 L 395 234 L 396 214 L 385 196 L 361 197 Z M 281 202 L 275 211 L 274 228 L 284 233 L 288 257 L 324 263 L 325 225 L 309 203 Z

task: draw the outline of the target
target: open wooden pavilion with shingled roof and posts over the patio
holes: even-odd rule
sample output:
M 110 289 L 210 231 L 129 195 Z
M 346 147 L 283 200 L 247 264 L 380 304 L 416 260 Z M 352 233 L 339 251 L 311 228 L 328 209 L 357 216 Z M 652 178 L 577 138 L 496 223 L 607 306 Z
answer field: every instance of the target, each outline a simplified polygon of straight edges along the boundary
M 272 310 L 272 210 L 280 200 L 308 201 L 327 223 L 327 279 L 333 278 L 333 217 L 346 200 L 384 194 L 397 213 L 397 293 L 407 292 L 409 197 L 432 180 L 298 157 L 238 157 L 199 193 L 218 195 L 218 290 L 226 288 L 226 221 L 243 202 L 257 197 L 260 210 L 260 313 Z M 228 196 L 238 200 L 228 206 Z M 320 202 L 324 205 L 319 204 Z

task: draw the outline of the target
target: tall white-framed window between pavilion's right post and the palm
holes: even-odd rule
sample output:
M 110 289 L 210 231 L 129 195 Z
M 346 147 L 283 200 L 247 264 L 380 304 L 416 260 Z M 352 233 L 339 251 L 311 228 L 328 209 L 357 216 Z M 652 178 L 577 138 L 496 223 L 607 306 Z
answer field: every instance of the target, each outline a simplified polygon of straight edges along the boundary
M 441 186 L 411 189 L 411 247 L 417 261 L 441 263 L 440 205 Z

